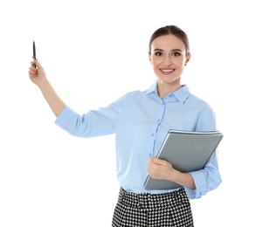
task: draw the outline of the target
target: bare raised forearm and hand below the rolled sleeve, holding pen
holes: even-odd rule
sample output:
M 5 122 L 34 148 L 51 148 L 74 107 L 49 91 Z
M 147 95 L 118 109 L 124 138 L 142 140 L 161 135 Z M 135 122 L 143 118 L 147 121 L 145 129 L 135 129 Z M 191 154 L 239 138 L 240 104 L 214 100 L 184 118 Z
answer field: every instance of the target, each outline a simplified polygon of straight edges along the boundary
M 34 67 L 33 65 L 37 65 L 37 67 Z M 38 59 L 31 62 L 31 67 L 29 68 L 29 76 L 31 81 L 37 85 L 43 93 L 45 100 L 52 109 L 53 114 L 58 117 L 60 112 L 66 107 L 66 104 L 54 91 L 51 83 L 46 78 L 45 70 L 43 66 L 40 65 Z

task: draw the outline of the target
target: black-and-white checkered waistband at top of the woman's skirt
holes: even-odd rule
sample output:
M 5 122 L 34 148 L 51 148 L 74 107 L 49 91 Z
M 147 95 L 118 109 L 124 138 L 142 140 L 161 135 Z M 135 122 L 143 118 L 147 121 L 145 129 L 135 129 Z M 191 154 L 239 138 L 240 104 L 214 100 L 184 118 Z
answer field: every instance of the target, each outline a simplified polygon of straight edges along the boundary
M 163 194 L 136 194 L 127 192 L 121 188 L 118 202 L 130 207 L 142 208 L 146 210 L 166 207 L 174 203 L 190 203 L 185 189 L 183 188 Z

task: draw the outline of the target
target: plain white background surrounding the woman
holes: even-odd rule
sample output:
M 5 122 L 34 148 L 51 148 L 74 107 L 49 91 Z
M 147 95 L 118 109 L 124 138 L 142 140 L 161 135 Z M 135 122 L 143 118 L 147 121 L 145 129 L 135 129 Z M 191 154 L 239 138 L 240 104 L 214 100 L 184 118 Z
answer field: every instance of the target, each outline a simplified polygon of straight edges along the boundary
M 1 1 L 0 226 L 111 226 L 119 191 L 114 136 L 80 139 L 54 124 L 28 77 L 32 40 L 52 86 L 82 114 L 149 88 L 156 79 L 149 38 L 168 24 L 190 38 L 183 84 L 214 107 L 225 134 L 219 146 L 223 182 L 191 201 L 195 226 L 253 226 L 253 5 L 248 0 Z

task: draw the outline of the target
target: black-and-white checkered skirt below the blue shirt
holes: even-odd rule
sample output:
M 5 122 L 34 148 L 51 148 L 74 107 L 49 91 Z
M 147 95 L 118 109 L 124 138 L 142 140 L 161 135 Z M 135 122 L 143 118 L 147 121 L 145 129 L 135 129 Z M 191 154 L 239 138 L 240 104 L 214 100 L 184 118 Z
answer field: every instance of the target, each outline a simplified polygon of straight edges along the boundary
M 135 194 L 120 189 L 112 227 L 193 227 L 185 190 L 163 194 Z

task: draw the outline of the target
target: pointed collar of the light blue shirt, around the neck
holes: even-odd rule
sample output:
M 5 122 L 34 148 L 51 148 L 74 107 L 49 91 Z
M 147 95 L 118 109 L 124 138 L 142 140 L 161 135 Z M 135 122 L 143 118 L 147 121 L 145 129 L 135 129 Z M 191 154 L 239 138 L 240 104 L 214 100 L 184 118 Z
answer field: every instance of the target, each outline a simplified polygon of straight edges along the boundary
M 158 96 L 158 93 L 157 93 L 157 80 L 155 80 L 153 85 L 149 87 L 149 90 L 147 90 L 146 93 L 147 94 L 154 93 L 155 95 Z M 176 90 L 176 92 L 170 93 L 170 94 L 166 95 L 166 98 L 168 99 L 168 97 L 171 97 L 173 95 L 181 103 L 184 103 L 184 101 L 187 100 L 188 97 L 190 96 L 190 89 L 189 89 L 189 87 L 187 85 L 183 85 L 180 89 Z

